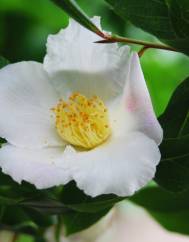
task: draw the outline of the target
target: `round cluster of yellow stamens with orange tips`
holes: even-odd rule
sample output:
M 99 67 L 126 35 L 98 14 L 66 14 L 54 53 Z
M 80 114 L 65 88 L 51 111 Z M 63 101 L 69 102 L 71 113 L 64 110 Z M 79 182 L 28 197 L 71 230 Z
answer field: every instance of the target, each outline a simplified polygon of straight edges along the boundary
M 88 99 L 74 93 L 69 101 L 60 100 L 52 110 L 58 134 L 72 145 L 91 149 L 111 134 L 108 110 L 97 96 Z

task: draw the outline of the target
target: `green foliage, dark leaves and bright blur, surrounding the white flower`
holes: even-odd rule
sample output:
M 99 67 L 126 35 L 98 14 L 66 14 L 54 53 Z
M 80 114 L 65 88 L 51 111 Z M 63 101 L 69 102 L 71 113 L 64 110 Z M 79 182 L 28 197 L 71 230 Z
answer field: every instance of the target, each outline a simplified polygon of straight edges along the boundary
M 70 3 L 74 1 L 54 2 L 69 12 Z M 101 16 L 105 30 L 151 42 L 161 40 L 189 54 L 188 0 L 96 0 L 90 4 L 88 0 L 78 0 L 77 3 L 89 17 Z M 74 14 L 75 10 L 71 15 Z M 79 17 L 79 21 L 90 28 L 85 17 Z M 50 0 L 0 0 L 0 55 L 4 56 L 0 58 L 0 68 L 8 64 L 6 59 L 11 63 L 42 61 L 47 36 L 67 24 L 68 15 Z M 95 31 L 95 27 L 92 28 Z M 132 49 L 140 47 L 132 46 Z M 182 53 L 150 49 L 141 58 L 165 138 L 160 147 L 162 161 L 155 177 L 159 186 L 144 188 L 130 200 L 146 208 L 165 228 L 188 234 L 189 59 Z M 74 183 L 38 191 L 27 183 L 20 186 L 1 173 L 0 226 L 32 235 L 20 237 L 19 241 L 44 241 L 43 233 L 52 224 L 56 225 L 57 234 L 62 223 L 67 234 L 80 231 L 122 199 L 113 195 L 92 199 Z

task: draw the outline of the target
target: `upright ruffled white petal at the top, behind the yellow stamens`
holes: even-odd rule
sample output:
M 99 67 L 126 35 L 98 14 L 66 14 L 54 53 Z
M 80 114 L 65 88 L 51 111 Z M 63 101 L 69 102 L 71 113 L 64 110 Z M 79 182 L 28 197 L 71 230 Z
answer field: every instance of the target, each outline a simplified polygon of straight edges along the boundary
M 96 34 L 74 20 L 65 30 L 48 37 L 44 68 L 63 97 L 77 91 L 106 101 L 123 92 L 129 47 L 96 44 L 96 40 Z

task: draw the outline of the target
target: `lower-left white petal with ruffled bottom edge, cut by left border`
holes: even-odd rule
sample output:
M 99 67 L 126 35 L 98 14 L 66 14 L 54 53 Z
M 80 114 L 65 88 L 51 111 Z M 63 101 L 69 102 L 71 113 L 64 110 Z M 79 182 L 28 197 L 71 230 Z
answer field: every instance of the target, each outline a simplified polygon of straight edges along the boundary
M 0 149 L 0 167 L 19 183 L 27 181 L 39 189 L 48 188 L 70 180 L 62 167 L 69 153 L 69 146 L 64 151 L 63 148 L 23 149 L 6 144 Z

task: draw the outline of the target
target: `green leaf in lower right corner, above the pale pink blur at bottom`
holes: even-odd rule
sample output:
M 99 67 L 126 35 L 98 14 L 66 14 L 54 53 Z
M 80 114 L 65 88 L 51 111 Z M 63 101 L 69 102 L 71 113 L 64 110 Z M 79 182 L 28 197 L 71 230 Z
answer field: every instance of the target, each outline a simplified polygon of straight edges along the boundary
M 129 199 L 147 209 L 166 229 L 189 234 L 189 191 L 170 193 L 159 187 L 148 187 Z

